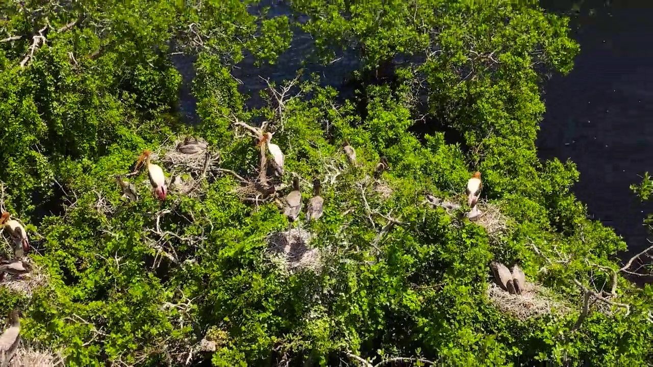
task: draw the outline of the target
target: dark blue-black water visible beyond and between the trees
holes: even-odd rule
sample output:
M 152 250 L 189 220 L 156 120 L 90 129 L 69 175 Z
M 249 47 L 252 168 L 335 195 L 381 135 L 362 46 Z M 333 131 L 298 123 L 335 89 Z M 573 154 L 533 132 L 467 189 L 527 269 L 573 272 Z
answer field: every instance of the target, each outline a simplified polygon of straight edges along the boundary
M 289 14 L 287 7 L 274 3 L 270 14 Z M 653 161 L 653 7 L 643 1 L 583 1 L 578 12 L 570 12 L 572 5 L 562 0 L 543 1 L 542 6 L 571 15 L 581 54 L 568 76 L 554 76 L 546 86 L 539 155 L 571 158 L 581 172 L 573 191 L 592 217 L 623 236 L 628 253 L 641 251 L 648 246 L 642 219 L 653 206 L 640 204 L 629 185 L 639 182 L 637 175 Z M 319 72 L 323 84 L 341 88 L 360 66 L 356 57 L 346 54 L 328 67 L 302 65 L 312 50 L 310 35 L 296 32 L 291 49 L 277 65 L 255 67 L 249 56 L 239 63 L 234 76 L 242 82 L 241 91 L 253 96 L 248 105 L 261 105 L 257 95 L 266 84 L 259 76 L 281 82 L 306 67 Z M 185 82 L 182 112 L 189 122 L 197 122 L 190 94 L 193 59 L 176 56 L 174 61 Z

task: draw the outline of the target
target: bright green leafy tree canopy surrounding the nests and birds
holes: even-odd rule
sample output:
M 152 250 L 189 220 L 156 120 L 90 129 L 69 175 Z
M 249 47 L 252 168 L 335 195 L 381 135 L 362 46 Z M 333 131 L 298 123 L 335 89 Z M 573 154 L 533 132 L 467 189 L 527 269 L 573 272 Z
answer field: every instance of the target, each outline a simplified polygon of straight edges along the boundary
M 611 285 L 609 258 L 626 245 L 586 219 L 573 163 L 537 158 L 539 83 L 569 72 L 578 52 L 567 19 L 507 1 L 289 1 L 293 14 L 277 17 L 238 0 L 24 3 L 1 8 L 12 15 L 3 33 L 22 37 L 0 42 L 0 178 L 47 281 L 29 295 L 0 287 L 0 305 L 21 308 L 24 339 L 63 349 L 68 365 L 327 366 L 345 353 L 482 366 L 650 360 L 653 291 L 622 276 L 616 302 L 629 315 L 592 306 L 573 330 L 575 280 Z M 20 65 L 43 27 L 46 42 Z M 246 54 L 276 63 L 297 29 L 323 63 L 357 53 L 356 97 L 302 74 L 270 86 L 283 100 L 268 89 L 263 107 L 248 107 L 232 70 Z M 176 112 L 177 52 L 197 57 L 196 126 Z M 317 270 L 270 259 L 289 223 L 274 200 L 242 200 L 238 176 L 259 174 L 259 149 L 236 120 L 269 122 L 285 154 L 276 183 L 300 175 L 305 207 L 311 179 L 323 182 L 323 217 L 293 225 L 313 234 Z M 164 164 L 181 135 L 206 140 L 220 170 Z M 113 176 L 146 149 L 167 178 L 193 178 L 193 192 L 159 202 L 137 172 L 127 180 L 140 199 L 122 199 Z M 380 157 L 390 169 L 375 182 Z M 502 231 L 424 204 L 426 193 L 465 202 L 475 170 L 487 205 L 507 217 Z M 643 199 L 651 187 L 647 175 Z M 493 260 L 520 264 L 564 311 L 500 311 L 487 296 Z

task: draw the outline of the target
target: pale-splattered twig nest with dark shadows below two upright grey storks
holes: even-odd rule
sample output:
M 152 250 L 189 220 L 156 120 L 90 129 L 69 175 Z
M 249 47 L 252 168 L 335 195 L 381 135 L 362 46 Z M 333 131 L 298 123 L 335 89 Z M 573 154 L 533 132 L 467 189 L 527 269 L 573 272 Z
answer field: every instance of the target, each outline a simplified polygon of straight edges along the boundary
M 309 242 L 313 234 L 303 229 L 276 232 L 268 236 L 268 255 L 272 263 L 287 272 L 301 269 L 319 271 L 322 257 L 318 249 L 311 248 Z

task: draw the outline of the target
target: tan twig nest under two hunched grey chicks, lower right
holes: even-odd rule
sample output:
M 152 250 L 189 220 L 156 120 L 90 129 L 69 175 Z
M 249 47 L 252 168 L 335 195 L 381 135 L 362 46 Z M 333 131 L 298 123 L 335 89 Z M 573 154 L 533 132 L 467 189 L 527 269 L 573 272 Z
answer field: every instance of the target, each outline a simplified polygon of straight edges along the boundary
M 521 295 L 511 295 L 491 282 L 488 285 L 487 295 L 499 310 L 522 321 L 531 317 L 564 314 L 569 311 L 569 307 L 565 304 L 554 300 L 549 289 L 528 281 Z

